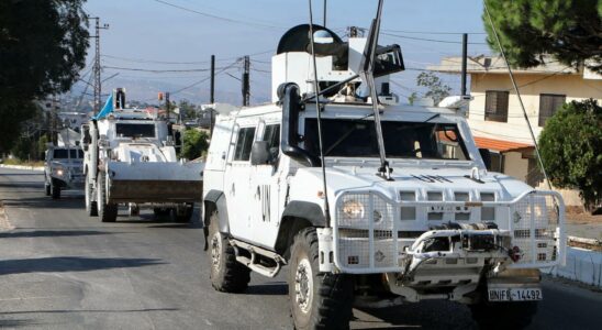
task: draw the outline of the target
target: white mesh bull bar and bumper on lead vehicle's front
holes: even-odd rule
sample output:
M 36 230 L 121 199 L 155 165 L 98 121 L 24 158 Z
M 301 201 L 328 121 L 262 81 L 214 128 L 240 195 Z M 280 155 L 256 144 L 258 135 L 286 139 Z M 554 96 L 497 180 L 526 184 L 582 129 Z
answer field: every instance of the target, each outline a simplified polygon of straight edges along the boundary
M 354 223 L 345 219 L 341 206 L 350 199 L 360 200 L 366 206 L 368 221 Z M 321 264 L 322 271 L 349 274 L 399 273 L 406 280 L 422 273 L 432 274 L 441 280 L 454 280 L 450 278 L 454 277 L 454 270 L 458 274 L 466 274 L 468 278 L 478 278 L 486 263 L 498 270 L 542 268 L 565 263 L 565 206 L 560 195 L 555 191 L 527 191 L 512 201 L 478 202 L 399 201 L 388 200 L 377 191 L 361 191 L 343 194 L 337 198 L 336 206 L 332 231 L 319 231 L 322 237 L 321 254 L 332 255 Z M 494 208 L 499 229 L 427 231 L 409 242 L 400 234 L 408 227 L 408 220 L 401 220 L 400 212 L 408 207 L 414 208 L 416 215 L 435 210 L 444 216 L 445 212 L 475 209 L 480 215 L 481 208 Z M 426 219 L 424 221 L 428 222 Z M 455 237 L 486 233 L 493 238 L 495 249 L 470 251 L 462 244 L 449 244 L 446 249 L 424 250 L 424 243 L 434 237 L 452 240 Z M 327 238 L 328 234 L 332 238 Z M 513 260 L 509 253 L 514 246 L 520 251 L 517 260 Z M 330 260 L 332 263 L 328 263 Z M 450 276 L 443 278 L 441 274 Z M 465 280 L 461 276 L 456 279 L 458 283 Z

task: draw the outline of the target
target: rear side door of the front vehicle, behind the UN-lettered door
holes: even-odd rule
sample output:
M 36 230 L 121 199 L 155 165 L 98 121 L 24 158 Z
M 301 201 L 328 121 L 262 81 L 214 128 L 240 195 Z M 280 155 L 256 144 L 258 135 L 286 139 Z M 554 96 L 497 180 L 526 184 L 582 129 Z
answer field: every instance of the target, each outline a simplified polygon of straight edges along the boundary
M 224 194 L 227 201 L 230 232 L 239 239 L 250 239 L 252 194 L 250 148 L 255 139 L 256 123 L 238 122 L 234 128 L 234 148 L 231 148 L 224 175 Z

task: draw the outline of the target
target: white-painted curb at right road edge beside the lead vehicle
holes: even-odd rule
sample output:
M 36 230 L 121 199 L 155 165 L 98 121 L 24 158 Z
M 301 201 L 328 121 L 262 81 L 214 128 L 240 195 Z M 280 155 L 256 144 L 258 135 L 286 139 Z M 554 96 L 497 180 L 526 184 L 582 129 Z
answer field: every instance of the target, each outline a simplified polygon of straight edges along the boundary
M 567 246 L 567 264 L 542 272 L 602 288 L 602 252 Z

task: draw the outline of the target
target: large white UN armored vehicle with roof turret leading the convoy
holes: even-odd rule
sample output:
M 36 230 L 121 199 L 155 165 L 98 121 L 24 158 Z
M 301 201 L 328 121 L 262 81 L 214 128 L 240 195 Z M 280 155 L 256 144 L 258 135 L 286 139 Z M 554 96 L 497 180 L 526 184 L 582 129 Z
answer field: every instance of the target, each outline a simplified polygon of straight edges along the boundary
M 347 41 L 291 29 L 272 57 L 274 103 L 216 107 L 203 190 L 212 285 L 241 292 L 250 271 L 288 265 L 296 329 L 426 299 L 523 327 L 543 298 L 538 268 L 565 257 L 562 200 L 488 172 L 460 113 L 398 105 L 388 75 L 403 69 L 401 50 L 377 46 L 375 22 Z

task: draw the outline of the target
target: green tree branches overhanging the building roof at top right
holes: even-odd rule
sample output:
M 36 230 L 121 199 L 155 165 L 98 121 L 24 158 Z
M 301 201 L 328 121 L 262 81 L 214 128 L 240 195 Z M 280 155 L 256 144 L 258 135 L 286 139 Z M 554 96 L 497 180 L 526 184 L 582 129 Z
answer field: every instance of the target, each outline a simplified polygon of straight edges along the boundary
M 550 54 L 577 67 L 584 59 L 602 73 L 602 0 L 486 0 L 509 62 L 519 67 L 544 63 Z M 499 51 L 487 12 L 487 42 Z

